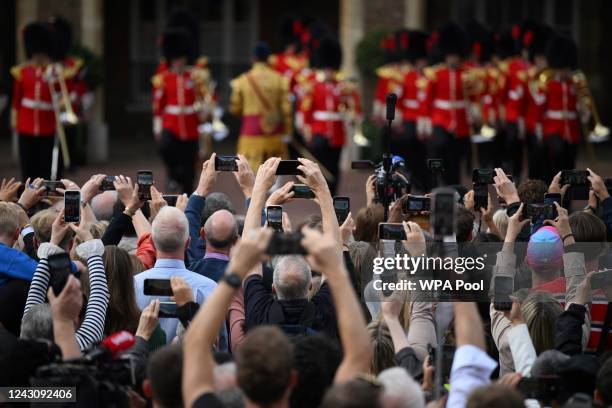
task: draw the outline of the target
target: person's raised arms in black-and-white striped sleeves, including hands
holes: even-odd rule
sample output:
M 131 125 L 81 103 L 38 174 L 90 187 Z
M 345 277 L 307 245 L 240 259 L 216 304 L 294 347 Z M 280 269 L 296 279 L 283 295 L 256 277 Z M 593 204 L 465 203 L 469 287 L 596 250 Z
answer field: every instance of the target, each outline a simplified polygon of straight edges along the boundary
M 77 226 L 75 224 L 66 223 L 64 221 L 63 211 L 57 214 L 51 229 L 51 241 L 41 244 L 38 248 L 40 262 L 32 278 L 24 315 L 28 313 L 33 305 L 45 301 L 45 295 L 47 294 L 49 280 L 51 278 L 51 271 L 49 270 L 47 258 L 50 255 L 64 252 L 59 247 L 59 244 L 64 240 L 64 236 L 68 231 L 74 232 L 83 242 L 77 247 L 77 254 L 82 259 L 87 260 L 91 287 L 85 318 L 80 322 L 80 325 L 78 325 L 79 329 L 75 333 L 75 338 L 80 350 L 84 350 L 96 341 L 101 340 L 104 333 L 104 320 L 109 301 L 106 274 L 102 262 L 104 245 L 101 240 L 94 240 L 92 238 L 88 224 L 81 222 L 81 224 Z

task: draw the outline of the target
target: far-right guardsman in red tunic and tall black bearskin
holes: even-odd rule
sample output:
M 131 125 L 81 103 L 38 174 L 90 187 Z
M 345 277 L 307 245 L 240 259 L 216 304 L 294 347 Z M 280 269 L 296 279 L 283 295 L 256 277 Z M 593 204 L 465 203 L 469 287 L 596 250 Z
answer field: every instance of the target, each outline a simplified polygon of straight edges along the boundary
M 579 96 L 573 73 L 578 66 L 576 43 L 557 35 L 548 44 L 549 69 L 540 74 L 545 101 L 542 108 L 542 134 L 548 156 L 546 180 L 576 164 L 580 142 Z

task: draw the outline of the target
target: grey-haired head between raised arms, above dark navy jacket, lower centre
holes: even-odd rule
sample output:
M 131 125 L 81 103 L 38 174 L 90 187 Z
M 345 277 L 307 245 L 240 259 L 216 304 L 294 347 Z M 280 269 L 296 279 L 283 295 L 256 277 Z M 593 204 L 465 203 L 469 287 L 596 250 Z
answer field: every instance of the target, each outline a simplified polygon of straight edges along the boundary
M 279 300 L 308 298 L 311 282 L 310 267 L 301 256 L 280 257 L 274 266 L 273 283 Z

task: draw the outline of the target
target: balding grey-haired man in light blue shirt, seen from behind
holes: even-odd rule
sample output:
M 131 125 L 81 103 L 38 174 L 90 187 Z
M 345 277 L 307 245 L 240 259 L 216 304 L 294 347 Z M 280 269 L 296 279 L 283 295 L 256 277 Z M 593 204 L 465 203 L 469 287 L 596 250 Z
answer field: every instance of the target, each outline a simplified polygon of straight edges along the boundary
M 144 294 L 146 279 L 170 279 L 173 276 L 183 278 L 193 290 L 193 297 L 198 304 L 203 304 L 215 289 L 217 284 L 212 280 L 185 267 L 185 249 L 189 245 L 188 223 L 185 214 L 175 207 L 164 207 L 155 217 L 151 236 L 157 251 L 157 261 L 153 268 L 134 276 L 136 303 L 140 309 L 149 305 L 151 300 L 171 301 L 167 296 L 147 296 Z M 166 333 L 166 341 L 170 343 L 176 336 L 178 319 L 162 318 L 160 326 Z M 219 349 L 227 349 L 225 329 L 220 333 Z

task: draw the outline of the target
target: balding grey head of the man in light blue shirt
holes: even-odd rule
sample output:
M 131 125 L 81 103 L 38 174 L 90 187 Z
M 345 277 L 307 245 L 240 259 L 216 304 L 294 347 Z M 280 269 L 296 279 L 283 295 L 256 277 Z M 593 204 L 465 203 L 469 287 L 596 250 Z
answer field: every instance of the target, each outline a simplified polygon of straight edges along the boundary
M 189 238 L 187 217 L 176 207 L 163 207 L 153 220 L 151 236 L 159 251 L 182 251 Z

